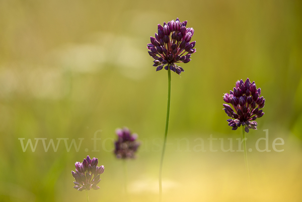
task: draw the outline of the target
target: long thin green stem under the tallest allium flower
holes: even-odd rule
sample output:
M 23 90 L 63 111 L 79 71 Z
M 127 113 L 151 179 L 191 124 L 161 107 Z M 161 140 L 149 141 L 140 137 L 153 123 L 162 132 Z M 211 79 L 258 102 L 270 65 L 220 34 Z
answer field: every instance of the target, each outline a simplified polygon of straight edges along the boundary
M 167 136 L 168 136 L 168 126 L 169 126 L 169 116 L 170 116 L 170 100 L 171 100 L 171 70 L 168 69 L 168 106 L 167 106 L 167 119 L 166 119 L 166 130 L 165 130 L 165 139 L 164 146 L 160 164 L 160 175 L 159 175 L 159 184 L 160 184 L 160 202 L 162 201 L 162 169 L 163 169 L 163 161 L 166 150 Z

